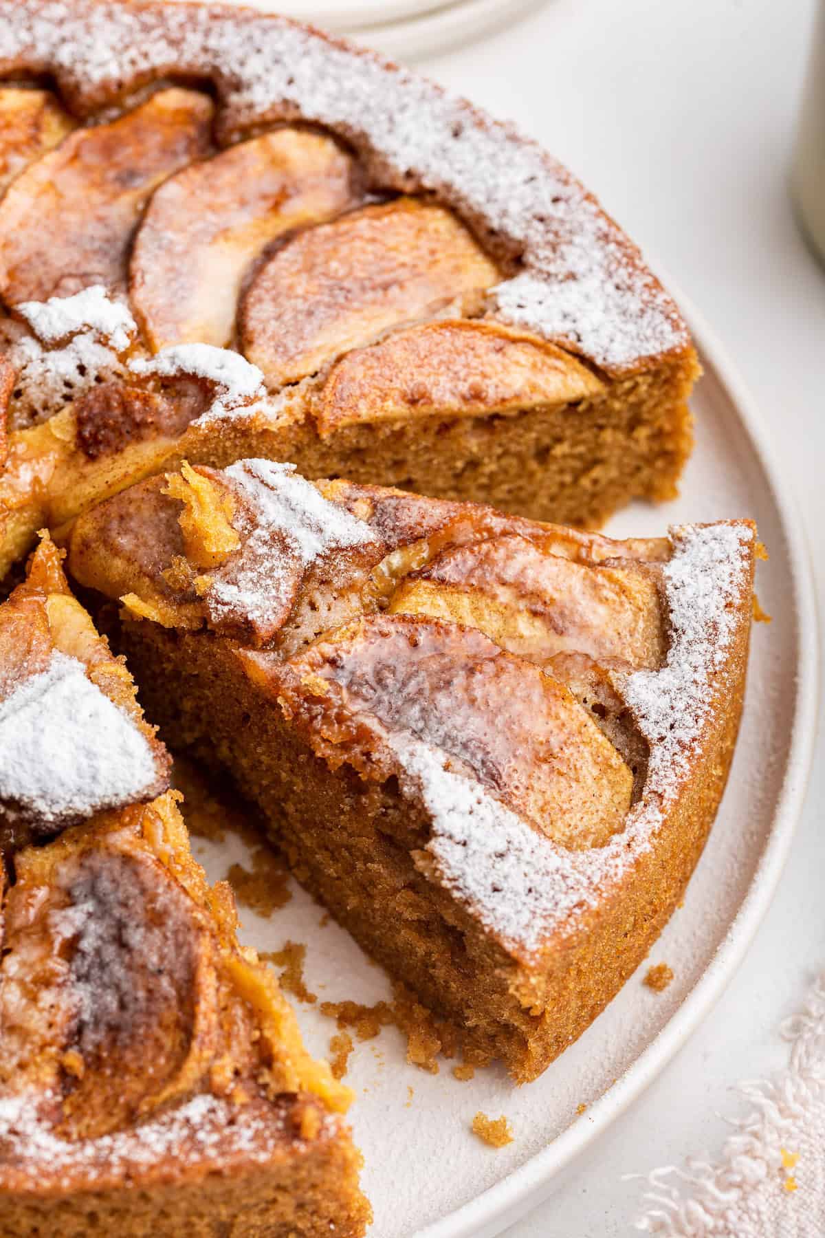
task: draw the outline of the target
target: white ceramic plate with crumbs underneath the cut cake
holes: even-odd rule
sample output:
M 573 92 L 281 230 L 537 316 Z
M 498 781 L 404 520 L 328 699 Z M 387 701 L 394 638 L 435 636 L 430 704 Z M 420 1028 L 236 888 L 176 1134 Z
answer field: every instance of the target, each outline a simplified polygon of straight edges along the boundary
M 684 298 L 682 300 L 684 307 Z M 553 1175 L 638 1096 L 714 1004 L 736 969 L 782 872 L 808 774 L 816 704 L 816 628 L 799 525 L 777 478 L 750 397 L 709 329 L 688 313 L 705 376 L 699 385 L 696 449 L 682 496 L 663 508 L 636 505 L 609 532 L 652 535 L 669 522 L 752 516 L 769 547 L 758 594 L 773 615 L 753 631 L 742 730 L 710 842 L 651 961 L 675 976 L 662 994 L 642 983 L 647 963 L 581 1039 L 537 1082 L 515 1088 L 500 1070 L 471 1082 L 449 1063 L 427 1075 L 404 1062 L 395 1029 L 356 1044 L 346 1077 L 364 1150 L 364 1186 L 375 1238 L 489 1238 L 552 1190 Z M 244 857 L 237 839 L 195 839 L 213 879 Z M 306 978 L 319 1002 L 388 995 L 371 966 L 323 909 L 297 886 L 286 907 L 261 919 L 241 907 L 242 938 L 261 950 L 306 942 Z M 335 1025 L 298 1004 L 309 1047 L 325 1054 Z M 578 1114 L 580 1106 L 586 1106 Z M 505 1114 L 515 1140 L 492 1151 L 470 1133 L 476 1110 Z

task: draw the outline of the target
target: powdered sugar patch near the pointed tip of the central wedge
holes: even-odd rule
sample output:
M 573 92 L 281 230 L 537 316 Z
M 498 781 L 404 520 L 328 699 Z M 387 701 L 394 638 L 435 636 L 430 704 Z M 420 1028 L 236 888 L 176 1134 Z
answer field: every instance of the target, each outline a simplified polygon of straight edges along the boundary
M 319 556 L 375 542 L 370 526 L 325 499 L 294 464 L 240 461 L 223 475 L 244 500 L 239 556 L 213 577 L 205 597 L 210 619 L 277 620 L 292 604 L 297 581 Z

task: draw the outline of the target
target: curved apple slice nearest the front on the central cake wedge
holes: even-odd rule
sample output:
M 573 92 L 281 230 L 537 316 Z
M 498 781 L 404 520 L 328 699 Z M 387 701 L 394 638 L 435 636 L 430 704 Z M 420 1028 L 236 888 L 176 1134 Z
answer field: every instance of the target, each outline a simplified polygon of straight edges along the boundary
M 602 846 L 630 807 L 630 769 L 568 690 L 479 631 L 370 615 L 291 659 L 277 691 L 331 759 L 371 717 L 463 763 L 565 847 Z

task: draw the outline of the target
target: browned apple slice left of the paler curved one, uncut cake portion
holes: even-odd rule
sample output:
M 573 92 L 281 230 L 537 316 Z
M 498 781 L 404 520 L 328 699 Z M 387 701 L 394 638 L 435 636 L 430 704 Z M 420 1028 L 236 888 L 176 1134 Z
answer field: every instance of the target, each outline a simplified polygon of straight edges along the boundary
M 93 284 L 124 291 L 141 212 L 167 176 L 210 152 L 213 113 L 205 94 L 171 87 L 118 120 L 75 130 L 27 167 L 0 202 L 6 305 Z

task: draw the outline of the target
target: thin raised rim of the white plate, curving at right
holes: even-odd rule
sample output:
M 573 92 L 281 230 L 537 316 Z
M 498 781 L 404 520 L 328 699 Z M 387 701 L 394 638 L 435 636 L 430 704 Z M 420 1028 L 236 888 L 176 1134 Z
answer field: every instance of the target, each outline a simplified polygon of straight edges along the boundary
M 658 264 L 657 271 L 662 275 Z M 665 1026 L 625 1075 L 589 1107 L 589 1122 L 570 1123 L 547 1148 L 495 1186 L 423 1229 L 417 1229 L 411 1238 L 495 1238 L 550 1195 L 553 1181 L 560 1170 L 604 1134 L 651 1086 L 710 1014 L 729 980 L 738 971 L 773 901 L 808 790 L 820 693 L 819 615 L 808 534 L 785 469 L 771 454 L 771 441 L 761 409 L 738 366 L 690 298 L 684 296 L 673 280 L 667 276 L 662 279 L 688 322 L 705 368 L 714 371 L 736 407 L 768 479 L 788 543 L 799 657 L 790 747 L 773 825 L 747 893 L 711 962 Z

